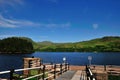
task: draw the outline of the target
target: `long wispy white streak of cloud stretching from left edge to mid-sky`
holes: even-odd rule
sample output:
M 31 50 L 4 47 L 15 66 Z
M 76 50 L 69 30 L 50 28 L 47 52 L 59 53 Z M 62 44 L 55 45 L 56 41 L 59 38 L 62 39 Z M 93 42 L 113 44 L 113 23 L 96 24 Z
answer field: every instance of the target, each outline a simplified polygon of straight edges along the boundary
M 16 28 L 16 27 L 23 27 L 23 26 L 38 26 L 38 27 L 69 27 L 70 23 L 64 23 L 64 24 L 57 24 L 57 23 L 37 23 L 29 20 L 13 20 L 8 19 L 0 15 L 0 27 L 6 27 L 6 28 Z

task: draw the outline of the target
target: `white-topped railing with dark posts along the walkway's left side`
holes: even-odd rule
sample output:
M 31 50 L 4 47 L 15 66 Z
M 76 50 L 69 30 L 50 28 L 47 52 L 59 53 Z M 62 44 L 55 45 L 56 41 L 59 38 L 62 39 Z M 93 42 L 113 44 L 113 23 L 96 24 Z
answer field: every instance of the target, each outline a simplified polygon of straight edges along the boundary
M 69 64 L 64 63 L 64 64 L 54 64 L 54 65 L 42 65 L 40 67 L 34 67 L 34 68 L 24 68 L 24 69 L 15 69 L 15 70 L 11 69 L 9 71 L 0 72 L 0 75 L 9 73 L 10 75 L 9 80 L 13 80 L 14 79 L 13 74 L 15 72 L 25 71 L 25 70 L 38 70 L 39 74 L 32 75 L 32 76 L 27 75 L 26 77 L 22 78 L 22 80 L 28 80 L 32 78 L 37 78 L 37 80 L 47 80 L 49 78 L 55 79 L 58 75 L 69 70 Z

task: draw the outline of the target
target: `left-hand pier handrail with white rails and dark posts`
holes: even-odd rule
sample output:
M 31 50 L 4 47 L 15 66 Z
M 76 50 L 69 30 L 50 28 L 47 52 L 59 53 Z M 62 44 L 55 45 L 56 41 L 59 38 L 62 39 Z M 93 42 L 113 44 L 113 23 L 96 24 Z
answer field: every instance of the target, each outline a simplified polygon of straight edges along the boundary
M 10 74 L 10 80 L 12 80 L 13 78 L 13 73 L 14 72 L 19 72 L 19 71 L 24 71 L 24 70 L 33 70 L 33 69 L 41 69 L 43 72 L 41 74 L 37 74 L 37 75 L 34 75 L 34 76 L 30 76 L 30 77 L 27 77 L 27 78 L 24 78 L 22 80 L 28 80 L 28 79 L 31 79 L 31 78 L 35 78 L 35 77 L 39 77 L 39 76 L 42 76 L 42 79 L 45 80 L 45 79 L 48 79 L 50 77 L 53 77 L 54 79 L 56 78 L 56 74 L 62 74 L 63 72 L 69 70 L 69 64 L 54 64 L 54 65 L 51 65 L 53 66 L 53 71 L 47 71 L 46 72 L 46 68 L 47 68 L 47 65 L 42 65 L 40 67 L 34 67 L 34 68 L 24 68 L 24 69 L 11 69 L 11 70 L 8 70 L 8 71 L 2 71 L 0 72 L 0 74 L 5 74 L 5 73 L 9 73 Z M 56 73 L 56 68 L 60 68 L 60 71 Z M 51 73 L 53 72 L 53 76 L 48 76 L 45 78 L 45 74 L 48 74 L 48 73 Z

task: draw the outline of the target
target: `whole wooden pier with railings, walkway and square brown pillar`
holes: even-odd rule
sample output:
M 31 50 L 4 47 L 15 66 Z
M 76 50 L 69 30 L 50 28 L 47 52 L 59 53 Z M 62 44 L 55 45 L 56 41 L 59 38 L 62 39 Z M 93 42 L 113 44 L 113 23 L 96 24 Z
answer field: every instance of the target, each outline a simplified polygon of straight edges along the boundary
M 0 80 L 108 80 L 108 75 L 120 76 L 120 66 L 41 64 L 39 61 L 38 58 L 25 58 L 23 69 L 2 71 L 0 75 L 9 73 L 10 76 L 9 79 L 0 78 Z

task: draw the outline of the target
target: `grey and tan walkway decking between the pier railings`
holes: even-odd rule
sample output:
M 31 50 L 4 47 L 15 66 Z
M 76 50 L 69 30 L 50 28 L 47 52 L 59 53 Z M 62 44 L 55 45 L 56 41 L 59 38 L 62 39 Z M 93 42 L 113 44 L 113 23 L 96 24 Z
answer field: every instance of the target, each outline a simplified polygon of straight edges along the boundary
M 63 73 L 55 80 L 87 80 L 85 66 L 70 66 L 70 71 Z

